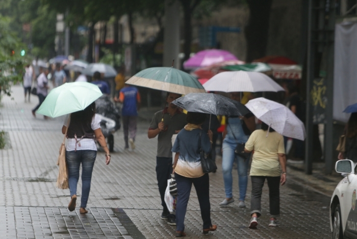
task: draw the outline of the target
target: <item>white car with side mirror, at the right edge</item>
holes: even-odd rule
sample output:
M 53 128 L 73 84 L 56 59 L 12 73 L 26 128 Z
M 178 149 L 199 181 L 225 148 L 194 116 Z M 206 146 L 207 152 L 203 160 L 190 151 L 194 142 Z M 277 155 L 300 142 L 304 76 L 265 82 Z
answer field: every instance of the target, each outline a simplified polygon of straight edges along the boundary
M 357 238 L 357 166 L 351 160 L 339 160 L 336 172 L 347 174 L 336 186 L 330 203 L 330 226 L 333 239 Z

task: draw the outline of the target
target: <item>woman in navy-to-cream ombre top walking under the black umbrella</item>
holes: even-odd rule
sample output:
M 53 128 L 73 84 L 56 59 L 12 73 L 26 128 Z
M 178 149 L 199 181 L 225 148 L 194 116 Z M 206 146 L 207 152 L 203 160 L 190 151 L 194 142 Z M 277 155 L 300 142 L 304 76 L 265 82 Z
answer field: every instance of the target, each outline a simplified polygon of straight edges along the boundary
M 201 128 L 205 120 L 205 113 L 188 112 L 188 124 L 177 134 L 172 146 L 175 153 L 172 168 L 177 184 L 176 237 L 186 236 L 184 221 L 192 184 L 201 210 L 203 234 L 217 229 L 211 222 L 210 178 L 208 173 L 203 173 L 200 157 L 200 150 L 209 154 L 212 147 L 212 131 L 206 134 Z

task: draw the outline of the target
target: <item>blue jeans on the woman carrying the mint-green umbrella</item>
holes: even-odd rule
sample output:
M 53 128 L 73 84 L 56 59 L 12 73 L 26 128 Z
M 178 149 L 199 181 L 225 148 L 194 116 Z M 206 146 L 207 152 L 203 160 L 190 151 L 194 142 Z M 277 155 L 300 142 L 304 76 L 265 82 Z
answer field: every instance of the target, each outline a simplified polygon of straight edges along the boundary
M 94 150 L 66 151 L 68 165 L 68 184 L 71 196 L 77 195 L 77 184 L 80 178 L 80 166 L 82 163 L 82 197 L 81 207 L 87 207 L 90 191 L 90 182 L 97 152 Z

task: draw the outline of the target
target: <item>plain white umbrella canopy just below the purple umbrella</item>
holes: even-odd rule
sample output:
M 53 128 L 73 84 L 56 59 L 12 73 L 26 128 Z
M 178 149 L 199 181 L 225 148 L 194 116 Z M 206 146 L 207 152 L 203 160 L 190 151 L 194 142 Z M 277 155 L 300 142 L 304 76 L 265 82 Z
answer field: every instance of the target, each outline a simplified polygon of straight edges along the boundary
M 206 91 L 218 92 L 278 92 L 285 89 L 266 74 L 248 71 L 218 73 L 203 84 Z

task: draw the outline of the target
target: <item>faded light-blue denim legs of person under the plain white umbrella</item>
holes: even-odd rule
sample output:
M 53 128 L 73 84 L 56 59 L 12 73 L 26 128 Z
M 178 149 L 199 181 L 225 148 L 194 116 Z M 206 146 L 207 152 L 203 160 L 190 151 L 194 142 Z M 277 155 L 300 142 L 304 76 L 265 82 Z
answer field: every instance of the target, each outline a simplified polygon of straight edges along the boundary
M 224 180 L 224 190 L 225 197 L 232 198 L 232 168 L 234 161 L 237 162 L 238 167 L 238 185 L 239 185 L 239 200 L 244 201 L 245 194 L 247 191 L 248 185 L 248 163 L 249 159 L 244 160 L 241 157 L 238 157 L 234 151 L 237 144 L 223 142 L 223 155 L 222 155 L 222 171 L 223 171 L 223 180 Z

